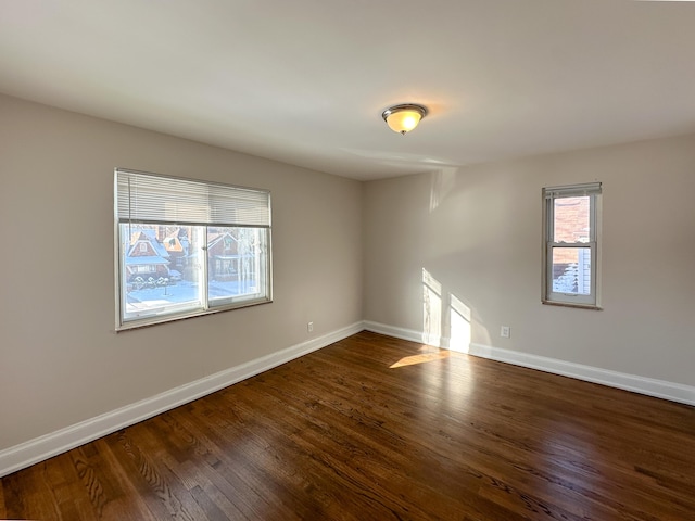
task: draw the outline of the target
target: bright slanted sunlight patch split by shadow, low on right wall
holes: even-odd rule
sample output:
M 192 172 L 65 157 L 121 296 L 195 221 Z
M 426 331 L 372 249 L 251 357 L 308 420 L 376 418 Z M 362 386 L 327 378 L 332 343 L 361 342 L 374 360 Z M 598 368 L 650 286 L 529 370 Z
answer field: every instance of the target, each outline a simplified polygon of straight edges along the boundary
M 422 268 L 422 342 L 468 353 L 470 318 L 470 307 Z

